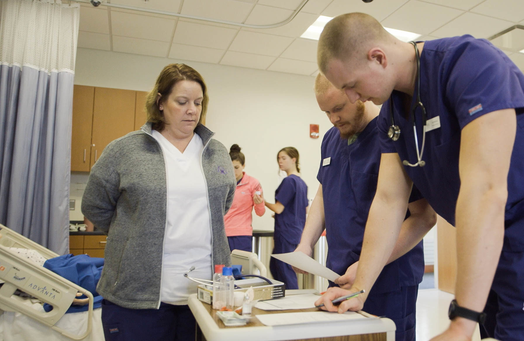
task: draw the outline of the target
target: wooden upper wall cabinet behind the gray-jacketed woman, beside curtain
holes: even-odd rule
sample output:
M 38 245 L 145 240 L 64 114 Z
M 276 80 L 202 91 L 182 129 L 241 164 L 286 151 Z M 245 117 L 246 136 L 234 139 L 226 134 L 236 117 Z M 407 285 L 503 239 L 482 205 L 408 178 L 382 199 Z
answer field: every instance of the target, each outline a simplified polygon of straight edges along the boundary
M 74 85 L 71 171 L 89 172 L 109 142 L 146 122 L 143 91 Z

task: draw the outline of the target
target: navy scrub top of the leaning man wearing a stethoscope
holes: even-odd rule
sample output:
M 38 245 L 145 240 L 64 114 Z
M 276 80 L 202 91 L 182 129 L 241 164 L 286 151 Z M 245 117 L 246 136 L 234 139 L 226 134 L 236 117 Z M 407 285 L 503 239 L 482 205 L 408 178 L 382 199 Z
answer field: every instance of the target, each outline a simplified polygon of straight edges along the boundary
M 524 250 L 524 76 L 506 54 L 485 39 L 472 36 L 426 41 L 420 56 L 420 97 L 428 126 L 422 159 L 424 167 L 405 166 L 409 177 L 435 212 L 455 224 L 455 206 L 460 190 L 459 152 L 461 130 L 484 114 L 516 108 L 517 134 L 508 174 L 504 237 L 505 250 Z M 413 101 L 417 94 L 413 94 Z M 400 138 L 387 136 L 393 101 L 395 124 Z M 412 102 L 413 103 L 413 102 Z M 411 104 L 412 105 L 412 104 Z M 419 148 L 422 144 L 422 117 L 417 109 L 415 122 Z M 439 118 L 436 118 L 439 117 Z M 432 123 L 440 120 L 440 127 Z M 417 162 L 413 126 L 402 108 L 398 92 L 386 101 L 378 119 L 381 150 L 398 152 L 401 160 Z M 438 126 L 438 125 L 436 125 Z M 515 228 L 511 228 L 511 226 Z M 520 226 L 520 227 L 519 227 Z

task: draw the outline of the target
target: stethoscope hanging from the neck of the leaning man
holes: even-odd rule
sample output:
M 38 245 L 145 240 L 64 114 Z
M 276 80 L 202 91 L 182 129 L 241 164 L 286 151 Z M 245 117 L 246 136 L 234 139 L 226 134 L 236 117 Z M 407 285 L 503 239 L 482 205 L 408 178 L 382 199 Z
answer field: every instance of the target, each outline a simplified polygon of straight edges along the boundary
M 410 41 L 410 43 L 415 48 L 415 55 L 417 58 L 417 101 L 413 104 L 411 107 L 411 111 L 409 113 L 409 119 L 413 122 L 413 135 L 415 137 L 415 148 L 417 148 L 417 162 L 416 163 L 409 163 L 408 160 L 403 160 L 402 164 L 404 166 L 410 166 L 410 167 L 424 167 L 425 161 L 422 160 L 422 153 L 424 152 L 424 142 L 425 142 L 425 129 L 426 129 L 426 112 L 424 108 L 424 104 L 420 101 L 420 54 L 419 54 L 419 48 L 417 47 L 417 43 L 414 41 Z M 417 125 L 415 123 L 415 110 L 417 107 L 420 107 L 422 111 L 422 146 L 419 150 L 419 139 L 417 137 Z M 400 137 L 400 127 L 395 124 L 395 117 L 393 115 L 393 98 L 392 96 L 389 97 L 389 114 L 391 115 L 391 127 L 389 127 L 388 130 L 388 136 L 390 139 L 396 141 Z

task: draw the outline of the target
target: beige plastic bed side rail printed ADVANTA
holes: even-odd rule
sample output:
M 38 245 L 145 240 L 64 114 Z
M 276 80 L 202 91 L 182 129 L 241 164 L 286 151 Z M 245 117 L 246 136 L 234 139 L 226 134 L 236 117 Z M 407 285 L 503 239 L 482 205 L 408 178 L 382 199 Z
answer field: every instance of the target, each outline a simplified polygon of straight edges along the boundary
M 88 336 L 92 329 L 93 294 L 52 271 L 17 256 L 9 247 L 34 249 L 47 259 L 58 257 L 55 252 L 2 224 L 0 224 L 0 234 L 2 235 L 0 237 L 0 280 L 5 281 L 0 287 L 0 310 L 23 313 L 74 340 L 81 340 Z M 13 297 L 17 289 L 49 303 L 53 309 L 49 312 L 32 309 L 31 306 Z M 88 326 L 85 333 L 81 335 L 71 334 L 54 325 L 69 309 L 77 292 L 89 298 Z

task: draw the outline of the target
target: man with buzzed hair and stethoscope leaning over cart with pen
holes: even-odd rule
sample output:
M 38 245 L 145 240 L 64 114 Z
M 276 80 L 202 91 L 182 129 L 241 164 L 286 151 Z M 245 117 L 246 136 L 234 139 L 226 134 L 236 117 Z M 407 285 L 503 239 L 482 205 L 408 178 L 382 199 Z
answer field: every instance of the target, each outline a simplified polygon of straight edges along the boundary
M 433 340 L 471 339 L 476 322 L 482 337 L 524 340 L 522 73 L 486 40 L 405 43 L 362 13 L 330 21 L 318 52 L 320 70 L 351 102 L 384 103 L 378 187 L 351 291 L 368 289 L 388 260 L 413 183 L 457 232 L 452 321 Z M 362 307 L 365 295 L 330 304 L 347 293 L 319 303 Z

